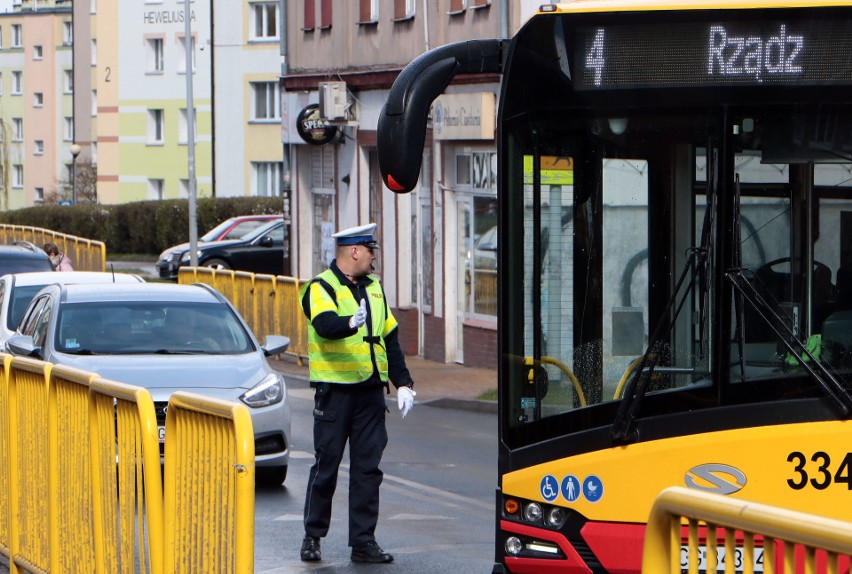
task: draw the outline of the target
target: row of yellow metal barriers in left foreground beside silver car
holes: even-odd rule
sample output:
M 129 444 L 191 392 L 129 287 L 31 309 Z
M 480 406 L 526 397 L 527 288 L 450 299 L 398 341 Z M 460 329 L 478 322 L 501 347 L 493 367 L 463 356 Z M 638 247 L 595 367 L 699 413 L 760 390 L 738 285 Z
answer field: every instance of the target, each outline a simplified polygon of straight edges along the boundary
M 0 354 L 0 427 L 0 551 L 12 574 L 252 572 L 244 405 L 172 397 L 165 495 L 147 389 Z

